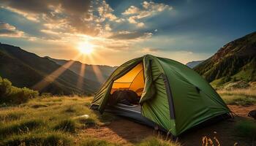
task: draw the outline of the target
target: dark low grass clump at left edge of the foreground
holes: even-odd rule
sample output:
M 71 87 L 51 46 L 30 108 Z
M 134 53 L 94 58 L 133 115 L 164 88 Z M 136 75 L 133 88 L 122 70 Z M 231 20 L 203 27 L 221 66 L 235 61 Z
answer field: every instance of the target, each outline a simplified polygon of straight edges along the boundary
M 7 137 L 11 134 L 22 134 L 34 130 L 42 125 L 42 120 L 28 120 L 21 123 L 10 124 L 0 128 L 0 136 Z

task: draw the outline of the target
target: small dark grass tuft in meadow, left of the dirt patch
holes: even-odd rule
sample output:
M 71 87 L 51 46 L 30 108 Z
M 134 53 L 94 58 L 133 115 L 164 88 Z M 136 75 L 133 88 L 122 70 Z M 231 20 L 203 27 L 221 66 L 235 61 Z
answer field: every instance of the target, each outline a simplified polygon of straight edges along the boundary
M 54 130 L 61 130 L 66 132 L 75 132 L 75 121 L 74 120 L 62 120 L 56 126 Z

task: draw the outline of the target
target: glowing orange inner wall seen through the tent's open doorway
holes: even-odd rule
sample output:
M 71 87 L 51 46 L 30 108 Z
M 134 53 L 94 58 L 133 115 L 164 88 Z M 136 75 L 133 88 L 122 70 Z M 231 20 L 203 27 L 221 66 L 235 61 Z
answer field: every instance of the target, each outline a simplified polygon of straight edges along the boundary
M 118 90 L 135 91 L 138 96 L 141 96 L 144 88 L 143 64 L 140 63 L 132 70 L 124 74 L 113 82 L 111 93 Z

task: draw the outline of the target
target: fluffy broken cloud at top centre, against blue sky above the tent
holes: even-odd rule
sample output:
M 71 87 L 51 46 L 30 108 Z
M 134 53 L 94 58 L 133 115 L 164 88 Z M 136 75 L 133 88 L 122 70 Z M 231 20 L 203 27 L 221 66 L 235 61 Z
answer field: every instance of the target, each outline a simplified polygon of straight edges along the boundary
M 130 6 L 128 9 L 126 9 L 121 14 L 124 16 L 129 16 L 127 18 L 129 23 L 135 24 L 138 27 L 145 26 L 145 23 L 139 22 L 143 18 L 152 17 L 154 15 L 157 15 L 159 12 L 163 12 L 165 10 L 171 10 L 173 7 L 167 5 L 167 4 L 158 4 L 154 3 L 153 1 L 147 2 L 143 1 L 142 3 L 142 9 L 139 9 L 135 6 Z

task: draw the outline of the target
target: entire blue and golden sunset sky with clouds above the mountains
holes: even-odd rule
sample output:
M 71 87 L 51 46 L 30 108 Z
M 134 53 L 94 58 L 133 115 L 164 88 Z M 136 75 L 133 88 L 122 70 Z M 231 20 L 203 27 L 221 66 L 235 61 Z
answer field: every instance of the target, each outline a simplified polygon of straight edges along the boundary
M 255 7 L 238 0 L 0 0 L 0 42 L 86 64 L 119 66 L 146 54 L 186 64 L 256 31 Z

